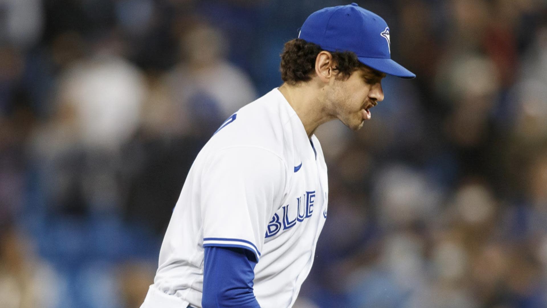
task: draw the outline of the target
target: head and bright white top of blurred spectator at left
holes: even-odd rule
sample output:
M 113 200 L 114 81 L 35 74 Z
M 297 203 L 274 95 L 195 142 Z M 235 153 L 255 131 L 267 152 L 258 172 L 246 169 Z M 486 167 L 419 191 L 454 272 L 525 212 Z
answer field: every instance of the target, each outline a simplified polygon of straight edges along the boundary
M 147 84 L 142 72 L 117 54 L 122 41 L 106 38 L 97 48 L 95 56 L 61 77 L 59 101 L 74 110 L 84 146 L 118 151 L 138 126 Z

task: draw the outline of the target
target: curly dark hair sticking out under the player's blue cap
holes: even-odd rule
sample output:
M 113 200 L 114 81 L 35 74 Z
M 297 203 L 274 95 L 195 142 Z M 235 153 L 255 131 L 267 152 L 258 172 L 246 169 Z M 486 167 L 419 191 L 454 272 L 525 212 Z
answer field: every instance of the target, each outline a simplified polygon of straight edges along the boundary
M 314 43 L 295 38 L 287 43 L 281 53 L 281 79 L 290 85 L 310 81 L 315 70 L 315 60 L 323 49 Z M 345 80 L 351 73 L 366 65 L 359 62 L 353 52 L 330 52 L 340 72 L 339 79 Z

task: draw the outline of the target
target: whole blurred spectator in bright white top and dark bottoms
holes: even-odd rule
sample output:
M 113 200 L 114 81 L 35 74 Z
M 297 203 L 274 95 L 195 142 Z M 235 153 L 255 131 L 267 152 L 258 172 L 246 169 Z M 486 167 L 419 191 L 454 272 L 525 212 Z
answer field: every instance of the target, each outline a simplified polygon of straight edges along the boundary
M 106 37 L 96 44 L 96 55 L 74 62 L 61 76 L 54 117 L 31 143 L 45 167 L 49 201 L 71 213 L 119 212 L 119 155 L 147 96 L 142 73 L 119 55 L 123 42 Z

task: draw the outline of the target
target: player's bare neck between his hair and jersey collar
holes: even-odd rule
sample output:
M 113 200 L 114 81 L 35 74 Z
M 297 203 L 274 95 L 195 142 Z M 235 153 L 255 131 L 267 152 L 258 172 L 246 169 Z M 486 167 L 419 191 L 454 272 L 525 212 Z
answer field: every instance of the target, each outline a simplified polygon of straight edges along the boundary
M 279 87 L 279 91 L 289 102 L 289 105 L 293 107 L 302 124 L 304 124 L 308 138 L 311 138 L 313 132 L 321 124 L 334 119 L 333 116 L 329 115 L 324 100 L 320 96 L 322 93 L 321 89 L 313 88 L 311 83 L 302 83 L 299 85 L 283 83 Z

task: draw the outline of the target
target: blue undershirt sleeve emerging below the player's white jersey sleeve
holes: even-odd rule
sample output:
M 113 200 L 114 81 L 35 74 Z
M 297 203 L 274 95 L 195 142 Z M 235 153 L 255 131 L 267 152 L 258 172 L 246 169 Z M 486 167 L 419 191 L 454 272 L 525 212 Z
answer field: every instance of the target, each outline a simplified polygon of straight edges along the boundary
M 203 308 L 260 308 L 253 293 L 255 265 L 249 249 L 205 247 Z

